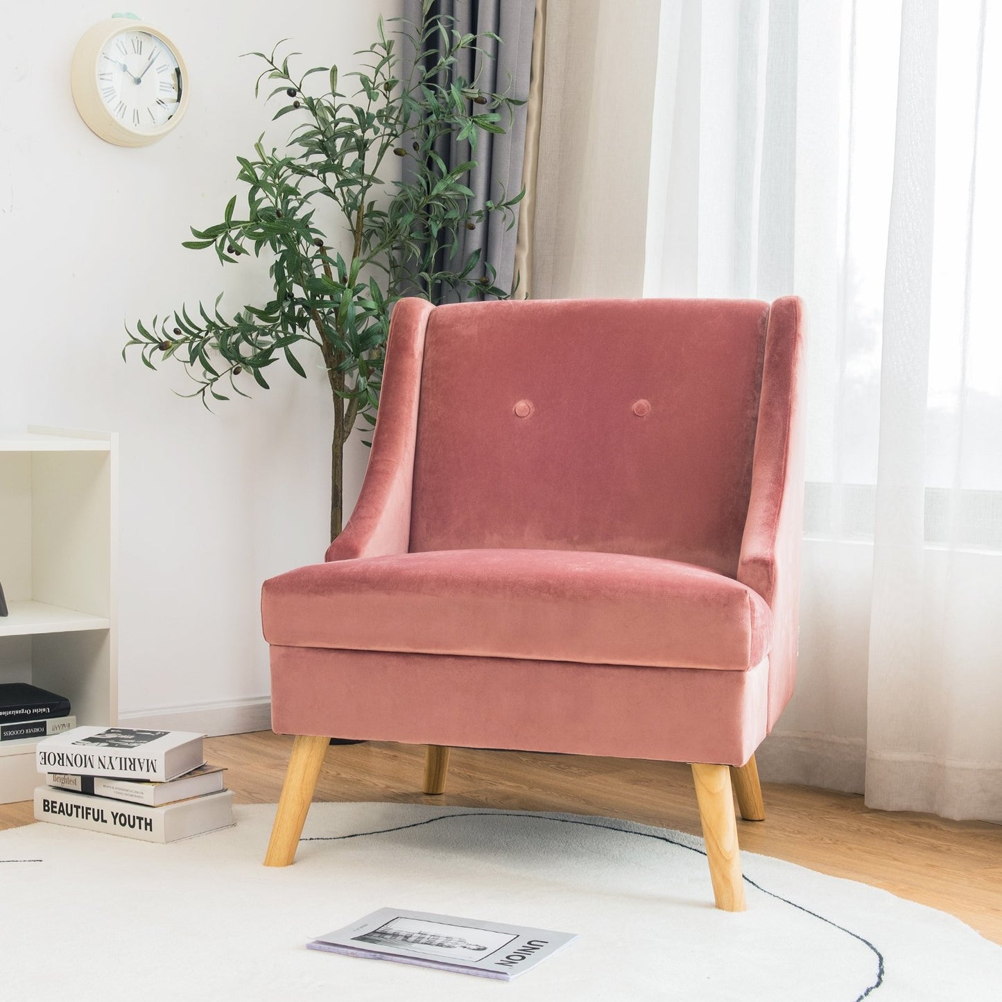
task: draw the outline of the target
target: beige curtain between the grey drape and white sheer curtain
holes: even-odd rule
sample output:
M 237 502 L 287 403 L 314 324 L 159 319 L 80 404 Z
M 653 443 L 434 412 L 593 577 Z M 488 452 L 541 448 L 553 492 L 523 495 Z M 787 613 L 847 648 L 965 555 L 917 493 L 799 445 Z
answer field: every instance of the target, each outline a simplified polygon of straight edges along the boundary
M 643 292 L 660 0 L 546 0 L 533 299 Z

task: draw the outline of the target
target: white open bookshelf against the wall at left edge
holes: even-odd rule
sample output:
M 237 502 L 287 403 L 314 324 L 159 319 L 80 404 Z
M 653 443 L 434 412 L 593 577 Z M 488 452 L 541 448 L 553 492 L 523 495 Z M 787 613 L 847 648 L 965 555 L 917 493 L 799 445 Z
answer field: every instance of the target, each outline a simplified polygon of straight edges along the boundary
M 118 716 L 117 436 L 0 434 L 0 682 L 69 697 L 78 723 Z M 0 741 L 0 804 L 38 785 L 35 741 Z

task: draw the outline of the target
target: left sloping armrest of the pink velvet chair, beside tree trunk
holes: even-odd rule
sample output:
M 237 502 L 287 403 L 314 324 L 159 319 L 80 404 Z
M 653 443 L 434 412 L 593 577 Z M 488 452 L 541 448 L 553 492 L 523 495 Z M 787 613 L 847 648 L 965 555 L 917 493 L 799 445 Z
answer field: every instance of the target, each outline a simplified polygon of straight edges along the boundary
M 358 503 L 327 560 L 406 553 L 418 431 L 421 366 L 430 303 L 400 300 L 393 309 L 372 452 Z

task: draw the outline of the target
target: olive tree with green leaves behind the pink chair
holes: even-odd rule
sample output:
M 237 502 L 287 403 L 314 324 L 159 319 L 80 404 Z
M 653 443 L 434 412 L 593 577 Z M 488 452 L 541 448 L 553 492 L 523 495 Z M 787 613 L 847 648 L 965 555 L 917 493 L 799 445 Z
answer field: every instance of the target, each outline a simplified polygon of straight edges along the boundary
M 273 81 L 267 101 L 280 105 L 274 117 L 290 116 L 295 127 L 285 148 L 259 140 L 253 156 L 236 157 L 242 197 L 229 199 L 220 222 L 192 226 L 194 238 L 183 245 L 212 247 L 226 266 L 266 257 L 267 295 L 231 316 L 220 311 L 220 296 L 209 307 L 181 306 L 137 322 L 122 353 L 137 346 L 150 368 L 177 359 L 197 384 L 189 396 L 206 406 L 227 400 L 230 390 L 246 396 L 247 380 L 268 389 L 265 370 L 276 362 L 306 377 L 298 353 L 319 353 L 334 402 L 332 538 L 342 529 L 345 442 L 359 419 L 375 424 L 394 303 L 407 295 L 440 302 L 510 293 L 495 286 L 495 270 L 479 250 L 458 263 L 456 255 L 464 227 L 494 213 L 513 224 L 521 194 L 499 191 L 477 205 L 464 182 L 476 165 L 478 136 L 504 132 L 522 102 L 457 78 L 460 55 L 479 52 L 494 36 L 460 33 L 430 6 L 420 25 L 401 22 L 396 37 L 380 19 L 379 40 L 359 53 L 363 68 L 346 74 L 357 82 L 350 95 L 338 89 L 336 66 L 297 75 L 291 60 L 298 53 L 281 56 L 282 43 L 271 55 L 252 53 L 265 62 L 256 96 Z M 416 55 L 406 78 L 403 44 Z M 327 88 L 320 93 L 318 80 Z M 450 167 L 436 153 L 445 136 L 468 148 L 464 162 Z M 410 169 L 400 177 L 404 157 Z M 321 216 L 332 215 L 343 234 L 322 228 Z

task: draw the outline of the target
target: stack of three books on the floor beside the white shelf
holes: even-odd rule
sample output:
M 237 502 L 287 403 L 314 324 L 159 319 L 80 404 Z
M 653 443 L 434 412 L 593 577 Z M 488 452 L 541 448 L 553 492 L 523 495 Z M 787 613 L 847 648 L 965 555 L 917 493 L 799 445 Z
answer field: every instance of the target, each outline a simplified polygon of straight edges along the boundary
M 205 765 L 201 734 L 75 727 L 38 742 L 48 786 L 35 820 L 145 842 L 176 842 L 233 824 L 222 770 Z

